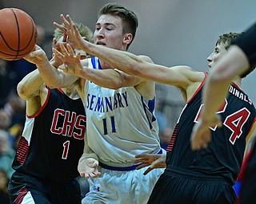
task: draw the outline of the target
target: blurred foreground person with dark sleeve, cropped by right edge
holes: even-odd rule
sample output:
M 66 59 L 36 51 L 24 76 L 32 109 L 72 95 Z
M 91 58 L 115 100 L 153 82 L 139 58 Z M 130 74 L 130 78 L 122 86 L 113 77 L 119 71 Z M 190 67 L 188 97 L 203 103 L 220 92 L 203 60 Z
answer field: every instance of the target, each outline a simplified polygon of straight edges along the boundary
M 238 37 L 228 50 L 225 57 L 218 61 L 206 80 L 203 90 L 204 104 L 199 123 L 194 126 L 191 135 L 192 147 L 200 149 L 206 147 L 210 142 L 211 124 L 222 124 L 219 117 L 215 114 L 218 107 L 222 104 L 224 96 L 227 95 L 230 81 L 238 73 L 250 73 L 256 65 L 256 24 L 251 26 Z M 212 96 L 214 97 L 212 97 Z M 256 145 L 255 138 L 252 145 L 246 152 L 246 157 L 242 163 L 242 170 L 236 182 L 238 186 L 238 200 L 236 203 L 249 204 L 256 201 L 254 193 L 256 189 Z

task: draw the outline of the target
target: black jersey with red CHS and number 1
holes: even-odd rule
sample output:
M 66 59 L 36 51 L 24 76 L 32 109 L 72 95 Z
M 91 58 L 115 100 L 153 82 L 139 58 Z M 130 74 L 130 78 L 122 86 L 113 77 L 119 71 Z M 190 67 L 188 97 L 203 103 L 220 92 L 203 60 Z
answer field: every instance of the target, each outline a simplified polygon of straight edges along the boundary
M 86 113 L 82 100 L 49 89 L 45 104 L 26 116 L 12 167 L 39 179 L 70 181 L 77 177 L 84 147 Z

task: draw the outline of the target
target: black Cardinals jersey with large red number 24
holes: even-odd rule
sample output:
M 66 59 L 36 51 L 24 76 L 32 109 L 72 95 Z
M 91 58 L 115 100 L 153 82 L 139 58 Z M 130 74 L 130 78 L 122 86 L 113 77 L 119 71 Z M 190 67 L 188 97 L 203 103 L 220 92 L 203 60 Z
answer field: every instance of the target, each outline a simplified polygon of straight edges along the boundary
M 212 141 L 206 149 L 192 151 L 190 135 L 202 109 L 202 84 L 182 109 L 167 148 L 167 168 L 178 167 L 202 175 L 218 175 L 234 184 L 242 165 L 246 135 L 255 121 L 250 98 L 236 84 L 218 114 L 222 128 L 211 127 Z

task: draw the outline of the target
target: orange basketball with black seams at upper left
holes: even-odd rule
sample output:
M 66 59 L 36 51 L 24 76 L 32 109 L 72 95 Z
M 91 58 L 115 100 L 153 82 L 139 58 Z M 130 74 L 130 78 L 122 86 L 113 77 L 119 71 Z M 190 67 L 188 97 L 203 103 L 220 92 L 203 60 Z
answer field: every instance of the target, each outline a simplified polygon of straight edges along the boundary
M 33 49 L 37 41 L 37 28 L 33 19 L 23 10 L 0 10 L 0 58 L 19 60 Z

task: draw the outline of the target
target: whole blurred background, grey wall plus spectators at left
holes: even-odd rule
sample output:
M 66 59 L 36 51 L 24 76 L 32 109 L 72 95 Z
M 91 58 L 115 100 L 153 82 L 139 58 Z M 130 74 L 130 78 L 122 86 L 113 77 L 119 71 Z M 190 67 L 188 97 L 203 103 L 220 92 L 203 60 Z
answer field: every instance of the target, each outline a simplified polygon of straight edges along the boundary
M 60 14 L 70 14 L 94 30 L 97 11 L 103 0 L 0 0 L 0 9 L 14 7 L 26 11 L 38 28 L 38 45 L 51 57 L 53 22 Z M 255 0 L 115 0 L 138 15 L 137 36 L 130 52 L 144 54 L 160 65 L 190 65 L 207 71 L 206 58 L 214 50 L 218 36 L 242 32 L 256 22 Z M 36 69 L 25 60 L 0 59 L 0 203 L 7 203 L 7 183 L 25 122 L 25 101 L 16 92 L 18 81 Z M 256 72 L 242 81 L 243 89 L 256 104 Z M 177 88 L 157 84 L 156 117 L 162 147 L 166 148 L 184 102 Z

